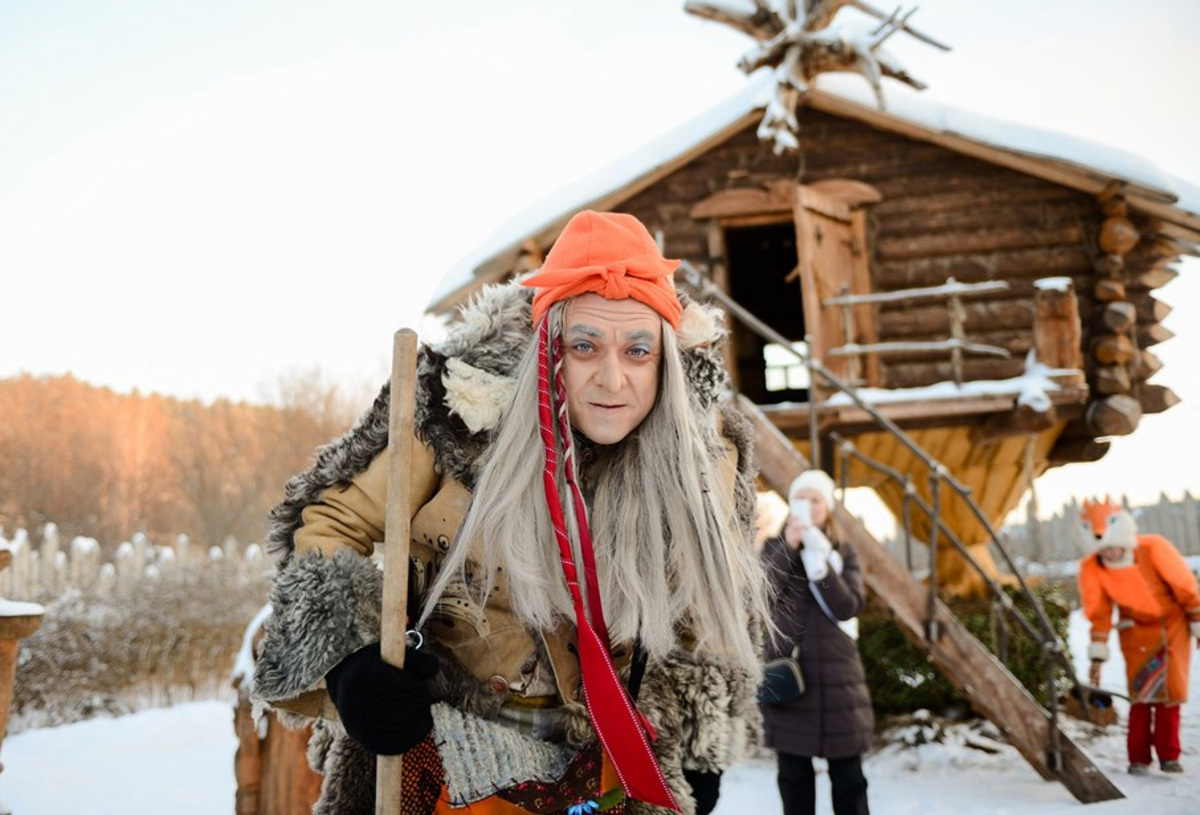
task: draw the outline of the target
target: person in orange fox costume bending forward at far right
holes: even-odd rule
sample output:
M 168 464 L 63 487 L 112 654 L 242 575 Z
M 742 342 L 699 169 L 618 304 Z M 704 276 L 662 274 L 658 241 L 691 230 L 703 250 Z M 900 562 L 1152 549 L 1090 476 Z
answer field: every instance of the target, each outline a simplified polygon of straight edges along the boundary
M 1182 773 L 1180 706 L 1187 701 L 1192 641 L 1200 640 L 1200 589 L 1178 550 L 1162 535 L 1139 535 L 1133 516 L 1111 499 L 1084 502 L 1079 593 L 1092 624 L 1088 678 L 1099 684 L 1117 637 L 1129 688 L 1129 773 L 1150 772 L 1151 747 L 1163 772 Z

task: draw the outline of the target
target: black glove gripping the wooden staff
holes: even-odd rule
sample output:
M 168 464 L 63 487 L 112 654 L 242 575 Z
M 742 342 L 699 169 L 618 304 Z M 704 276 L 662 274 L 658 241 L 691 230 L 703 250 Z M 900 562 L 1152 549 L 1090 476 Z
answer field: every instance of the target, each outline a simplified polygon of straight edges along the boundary
M 404 652 L 404 667 L 383 661 L 379 643 L 355 651 L 325 675 L 325 687 L 350 738 L 371 753 L 397 755 L 416 747 L 433 729 L 426 679 L 438 658 Z

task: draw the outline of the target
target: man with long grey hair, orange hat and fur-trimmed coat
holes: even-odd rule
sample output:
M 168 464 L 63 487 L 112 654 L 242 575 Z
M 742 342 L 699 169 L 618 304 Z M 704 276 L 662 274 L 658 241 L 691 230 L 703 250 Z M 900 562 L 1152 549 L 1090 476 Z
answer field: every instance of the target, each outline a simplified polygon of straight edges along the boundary
M 379 659 L 388 392 L 288 485 L 254 695 L 316 717 L 317 813 L 706 813 L 755 725 L 766 583 L 722 318 L 586 211 L 418 364 L 410 625 Z M 335 720 L 336 719 L 336 720 Z M 649 803 L 647 803 L 649 802 Z

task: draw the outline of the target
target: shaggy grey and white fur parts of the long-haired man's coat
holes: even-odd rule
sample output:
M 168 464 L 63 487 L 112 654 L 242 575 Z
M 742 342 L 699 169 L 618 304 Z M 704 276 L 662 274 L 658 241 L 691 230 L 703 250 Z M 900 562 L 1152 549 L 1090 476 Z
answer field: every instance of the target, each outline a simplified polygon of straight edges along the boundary
M 467 490 L 475 484 L 490 431 L 508 403 L 514 368 L 530 341 L 530 298 L 528 288 L 515 283 L 486 288 L 463 308 L 446 338 L 422 347 L 419 355 L 416 437 L 432 451 L 437 472 Z M 680 326 L 680 348 L 694 408 L 709 417 L 720 411 L 725 436 L 738 449 L 734 502 L 744 535 L 738 543 L 749 545 L 755 501 L 750 433 L 739 414 L 718 406 L 727 386 L 718 348 L 722 326 L 720 313 L 692 304 Z M 288 483 L 286 499 L 272 513 L 268 545 L 278 557 L 278 574 L 252 690 L 259 703 L 312 695 L 330 667 L 379 639 L 382 573 L 350 550 L 334 557 L 298 557 L 294 535 L 306 507 L 331 489 L 346 489 L 386 449 L 388 401 L 385 386 L 349 432 L 322 448 L 314 463 Z M 648 664 L 638 707 L 658 731 L 654 749 L 684 813 L 692 811 L 684 769 L 724 769 L 756 739 L 757 682 L 757 676 L 727 660 L 683 649 Z M 460 666 L 443 663 L 437 683 L 437 696 L 482 717 L 494 715 L 502 701 Z M 569 735 L 572 727 L 580 738 L 590 735 L 583 706 L 569 701 L 565 707 L 572 719 Z M 281 717 L 289 724 L 308 720 L 287 709 L 284 705 Z M 324 718 L 322 709 L 329 708 L 304 709 L 317 717 L 310 762 L 325 775 L 314 813 L 373 813 L 374 756 L 350 741 L 336 720 Z M 655 808 L 638 803 L 631 811 Z

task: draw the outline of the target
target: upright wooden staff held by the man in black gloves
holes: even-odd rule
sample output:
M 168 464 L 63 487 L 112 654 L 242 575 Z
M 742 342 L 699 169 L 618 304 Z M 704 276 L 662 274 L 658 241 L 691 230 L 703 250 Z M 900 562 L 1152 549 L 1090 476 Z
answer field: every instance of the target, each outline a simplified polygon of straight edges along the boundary
M 391 395 L 388 414 L 388 516 L 383 547 L 383 618 L 379 649 L 384 661 L 404 667 L 408 623 L 408 475 L 413 461 L 413 409 L 416 396 L 416 334 L 400 329 L 392 338 Z M 376 763 L 376 815 L 398 815 L 402 756 L 382 755 Z

